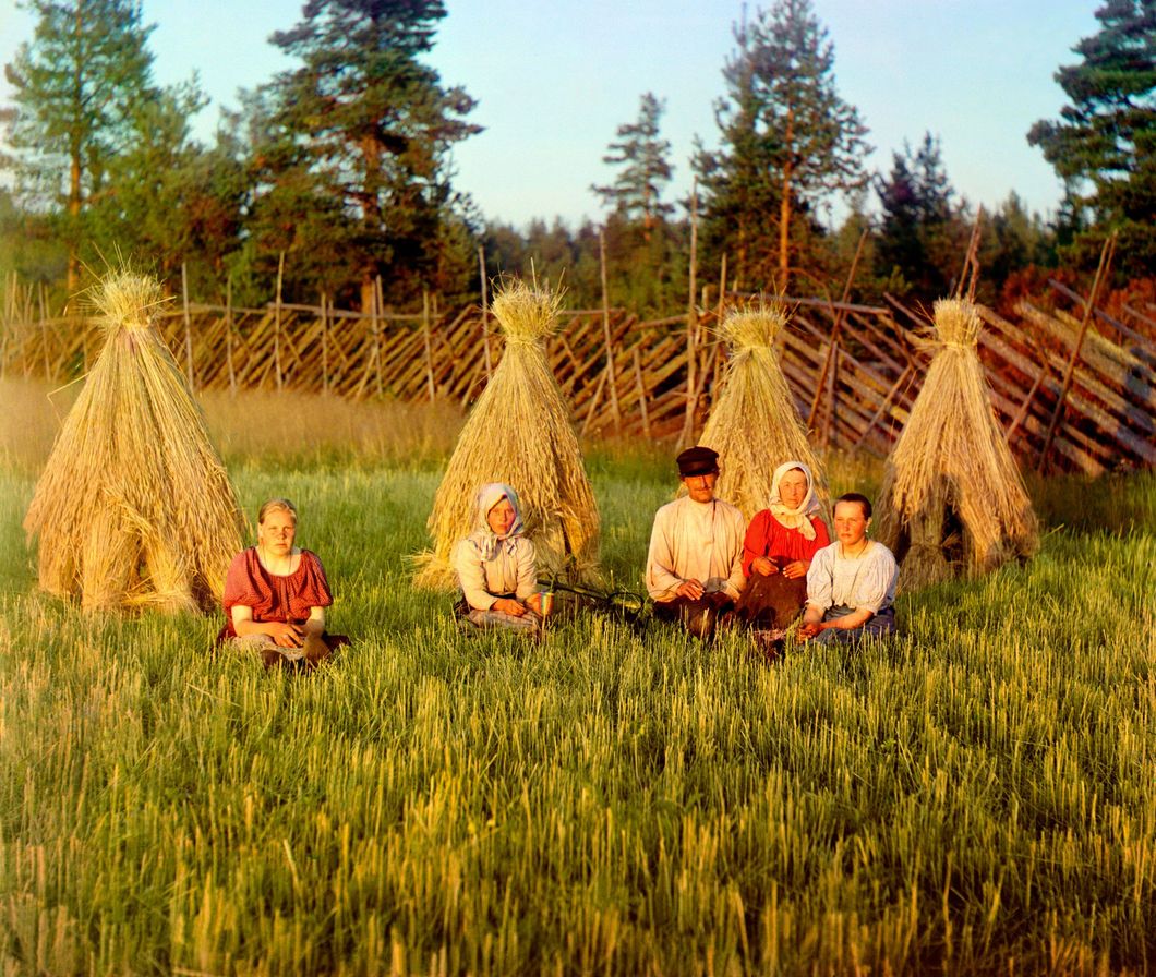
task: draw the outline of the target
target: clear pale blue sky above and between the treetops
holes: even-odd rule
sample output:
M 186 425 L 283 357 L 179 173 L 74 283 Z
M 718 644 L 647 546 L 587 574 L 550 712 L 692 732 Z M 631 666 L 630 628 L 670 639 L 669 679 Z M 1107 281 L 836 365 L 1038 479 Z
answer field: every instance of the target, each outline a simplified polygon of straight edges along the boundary
M 1065 104 L 1053 80 L 1074 64 L 1072 47 L 1096 32 L 1102 0 L 814 0 L 835 43 L 842 97 L 859 109 L 875 147 L 873 170 L 924 132 L 940 136 L 956 190 L 988 208 L 1015 191 L 1045 216 L 1060 184 L 1025 134 Z M 213 104 L 198 119 L 208 139 L 221 105 L 289 66 L 268 44 L 291 27 L 301 0 L 144 0 L 155 23 L 157 79 L 194 71 Z M 753 12 L 758 5 L 750 2 Z M 491 219 L 599 220 L 591 193 L 613 170 L 601 162 L 615 128 L 632 121 L 638 99 L 666 99 L 662 133 L 672 143 L 668 199 L 690 185 L 697 134 L 717 145 L 713 102 L 734 47 L 741 0 L 447 0 L 430 60 L 446 84 L 479 101 L 486 127 L 454 157 L 459 190 Z M 0 0 L 0 60 L 31 37 L 32 20 Z M 9 90 L 0 79 L 0 102 Z M 842 208 L 836 207 L 836 214 Z

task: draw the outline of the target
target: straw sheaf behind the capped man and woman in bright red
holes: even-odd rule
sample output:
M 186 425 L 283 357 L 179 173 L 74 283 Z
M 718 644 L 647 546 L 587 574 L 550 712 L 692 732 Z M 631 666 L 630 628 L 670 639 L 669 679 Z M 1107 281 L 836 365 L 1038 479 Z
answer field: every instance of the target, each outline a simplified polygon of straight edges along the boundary
M 771 476 L 784 461 L 806 464 L 815 494 L 828 497 L 822 465 L 775 351 L 775 339 L 786 324 L 781 305 L 759 304 L 732 311 L 720 327 L 731 358 L 699 444 L 719 453 L 717 493 L 739 506 L 748 521 L 766 508 Z

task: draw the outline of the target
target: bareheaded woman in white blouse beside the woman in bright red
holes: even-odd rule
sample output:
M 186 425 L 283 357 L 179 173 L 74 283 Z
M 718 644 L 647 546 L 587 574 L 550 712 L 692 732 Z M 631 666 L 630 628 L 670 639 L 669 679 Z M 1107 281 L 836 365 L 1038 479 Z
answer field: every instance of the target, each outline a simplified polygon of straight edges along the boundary
M 885 546 L 867 539 L 870 502 L 859 493 L 835 502 L 836 541 L 815 554 L 807 571 L 807 610 L 799 635 L 850 644 L 895 632 L 899 568 Z

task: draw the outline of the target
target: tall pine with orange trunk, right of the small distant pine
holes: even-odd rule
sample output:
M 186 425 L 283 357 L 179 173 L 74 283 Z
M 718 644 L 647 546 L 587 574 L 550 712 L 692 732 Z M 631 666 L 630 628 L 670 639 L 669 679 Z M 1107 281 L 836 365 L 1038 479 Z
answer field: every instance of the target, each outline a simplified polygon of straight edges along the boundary
M 776 284 L 786 289 L 793 236 L 814 230 L 816 205 L 866 182 L 867 129 L 836 90 L 835 46 L 810 0 L 777 0 L 738 27 L 735 40 L 724 69 L 729 91 L 716 105 L 722 145 L 699 153 L 696 165 L 709 222 L 738 221 L 740 276 L 765 274 L 771 252 Z M 808 225 L 796 227 L 800 219 Z

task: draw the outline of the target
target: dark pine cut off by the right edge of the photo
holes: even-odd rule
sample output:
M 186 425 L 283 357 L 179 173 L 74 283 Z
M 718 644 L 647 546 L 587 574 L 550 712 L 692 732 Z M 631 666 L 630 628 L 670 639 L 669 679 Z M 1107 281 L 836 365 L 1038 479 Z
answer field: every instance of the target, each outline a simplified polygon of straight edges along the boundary
M 1096 12 L 1099 32 L 1073 51 L 1077 65 L 1055 80 L 1070 99 L 1060 120 L 1028 133 L 1064 179 L 1076 231 L 1074 251 L 1088 258 L 1107 230 L 1119 232 L 1117 266 L 1151 274 L 1156 267 L 1156 0 L 1107 0 Z

